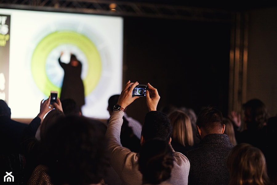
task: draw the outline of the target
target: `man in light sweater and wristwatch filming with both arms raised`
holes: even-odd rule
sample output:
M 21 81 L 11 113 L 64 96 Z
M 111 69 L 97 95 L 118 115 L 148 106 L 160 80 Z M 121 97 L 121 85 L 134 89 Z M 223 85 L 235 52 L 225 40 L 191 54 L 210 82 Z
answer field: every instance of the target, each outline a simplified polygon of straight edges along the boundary
M 133 97 L 132 92 L 138 82 L 128 81 L 123 88 L 107 126 L 106 138 L 108 140 L 108 152 L 110 164 L 120 176 L 124 185 L 141 185 L 142 174 L 139 171 L 138 153 L 131 152 L 120 143 L 120 130 L 123 122 L 124 109 L 139 97 Z M 145 116 L 142 126 L 141 144 L 151 139 L 160 139 L 171 142 L 172 125 L 166 114 L 157 111 L 160 99 L 158 90 L 151 84 L 147 84 L 146 103 L 149 112 Z M 171 145 L 170 145 L 171 146 Z M 172 146 L 171 146 L 172 148 Z M 171 178 L 166 182 L 174 185 L 187 185 L 190 170 L 190 162 L 187 157 L 172 148 L 174 167 Z

